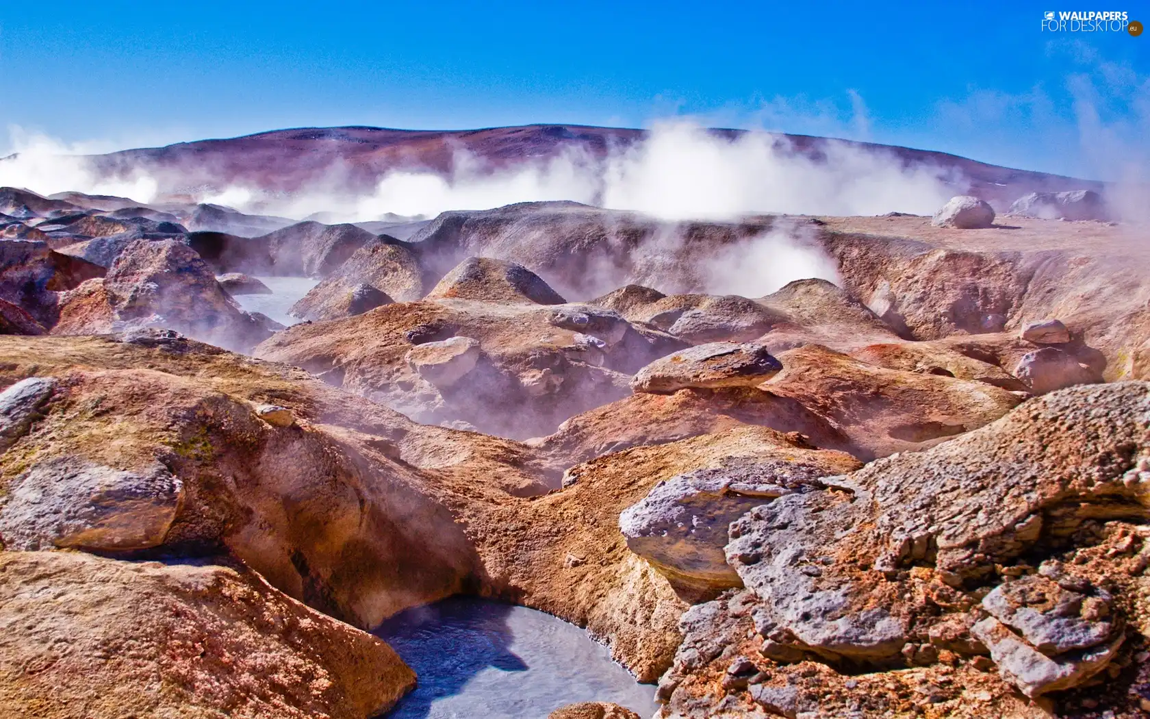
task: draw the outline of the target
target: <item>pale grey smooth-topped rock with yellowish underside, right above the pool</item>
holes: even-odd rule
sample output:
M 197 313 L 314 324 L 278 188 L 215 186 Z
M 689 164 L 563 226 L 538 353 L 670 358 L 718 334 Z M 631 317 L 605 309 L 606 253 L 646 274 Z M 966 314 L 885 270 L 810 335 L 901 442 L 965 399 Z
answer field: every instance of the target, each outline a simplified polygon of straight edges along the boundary
M 684 599 L 713 598 L 742 581 L 727 564 L 727 527 L 756 506 L 822 488 L 819 477 L 858 467 L 839 452 L 783 445 L 754 460 L 730 458 L 660 482 L 619 515 L 627 546 L 667 576 Z

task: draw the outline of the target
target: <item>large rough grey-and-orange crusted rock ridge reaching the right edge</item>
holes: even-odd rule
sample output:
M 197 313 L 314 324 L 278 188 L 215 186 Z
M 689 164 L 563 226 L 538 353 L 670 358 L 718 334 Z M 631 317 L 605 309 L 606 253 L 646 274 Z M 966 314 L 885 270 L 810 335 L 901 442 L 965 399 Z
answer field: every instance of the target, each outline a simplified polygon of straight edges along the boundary
M 926 609 L 908 592 L 911 567 L 958 587 L 1087 519 L 1144 520 L 1145 489 L 1124 477 L 1145 443 L 1148 387 L 1063 390 L 930 450 L 827 477 L 826 490 L 756 507 L 731 523 L 726 553 L 761 599 L 759 630 L 830 660 L 898 660 L 933 624 L 912 630 Z

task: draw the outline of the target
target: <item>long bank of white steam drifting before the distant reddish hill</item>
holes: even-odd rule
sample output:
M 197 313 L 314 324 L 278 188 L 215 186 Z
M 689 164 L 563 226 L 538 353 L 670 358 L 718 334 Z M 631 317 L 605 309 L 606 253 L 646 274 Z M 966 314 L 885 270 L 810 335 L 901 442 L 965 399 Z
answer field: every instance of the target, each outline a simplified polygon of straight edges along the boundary
M 0 161 L 0 185 L 41 194 L 68 190 L 118 194 L 148 202 L 171 184 L 143 170 L 102 177 L 77 156 L 90 147 L 67 146 L 18 129 L 13 145 L 18 154 Z M 431 216 L 539 200 L 575 200 L 664 220 L 722 220 L 753 213 L 929 214 L 953 194 L 942 170 L 903 167 L 891 153 L 828 141 L 823 154 L 814 160 L 792 152 L 785 139 L 766 132 L 727 139 L 696 124 L 662 122 L 645 141 L 615 150 L 606 159 L 573 147 L 549 160 L 492 169 L 461 151 L 448 176 L 397 169 L 367 194 L 348 193 L 340 168 L 334 168 L 329 177 L 288 197 L 232 185 L 201 189 L 198 199 L 296 219 L 322 212 L 340 221 L 375 220 L 388 213 Z

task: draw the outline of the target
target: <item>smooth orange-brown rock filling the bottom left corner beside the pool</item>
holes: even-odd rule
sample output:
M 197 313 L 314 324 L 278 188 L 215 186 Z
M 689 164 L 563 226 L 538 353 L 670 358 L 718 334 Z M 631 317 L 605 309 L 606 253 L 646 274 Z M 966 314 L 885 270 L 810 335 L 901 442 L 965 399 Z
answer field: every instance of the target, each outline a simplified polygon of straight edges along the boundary
M 382 641 L 220 561 L 0 552 L 0 714 L 368 719 L 415 686 Z

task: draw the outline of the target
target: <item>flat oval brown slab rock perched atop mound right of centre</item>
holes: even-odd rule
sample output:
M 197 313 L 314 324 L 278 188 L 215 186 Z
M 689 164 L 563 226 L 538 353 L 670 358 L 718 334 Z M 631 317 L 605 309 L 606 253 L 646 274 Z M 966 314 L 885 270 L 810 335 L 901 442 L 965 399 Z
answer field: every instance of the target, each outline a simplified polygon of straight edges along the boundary
M 757 387 L 782 368 L 761 346 L 713 342 L 651 362 L 631 380 L 631 389 L 673 395 L 685 388 Z

